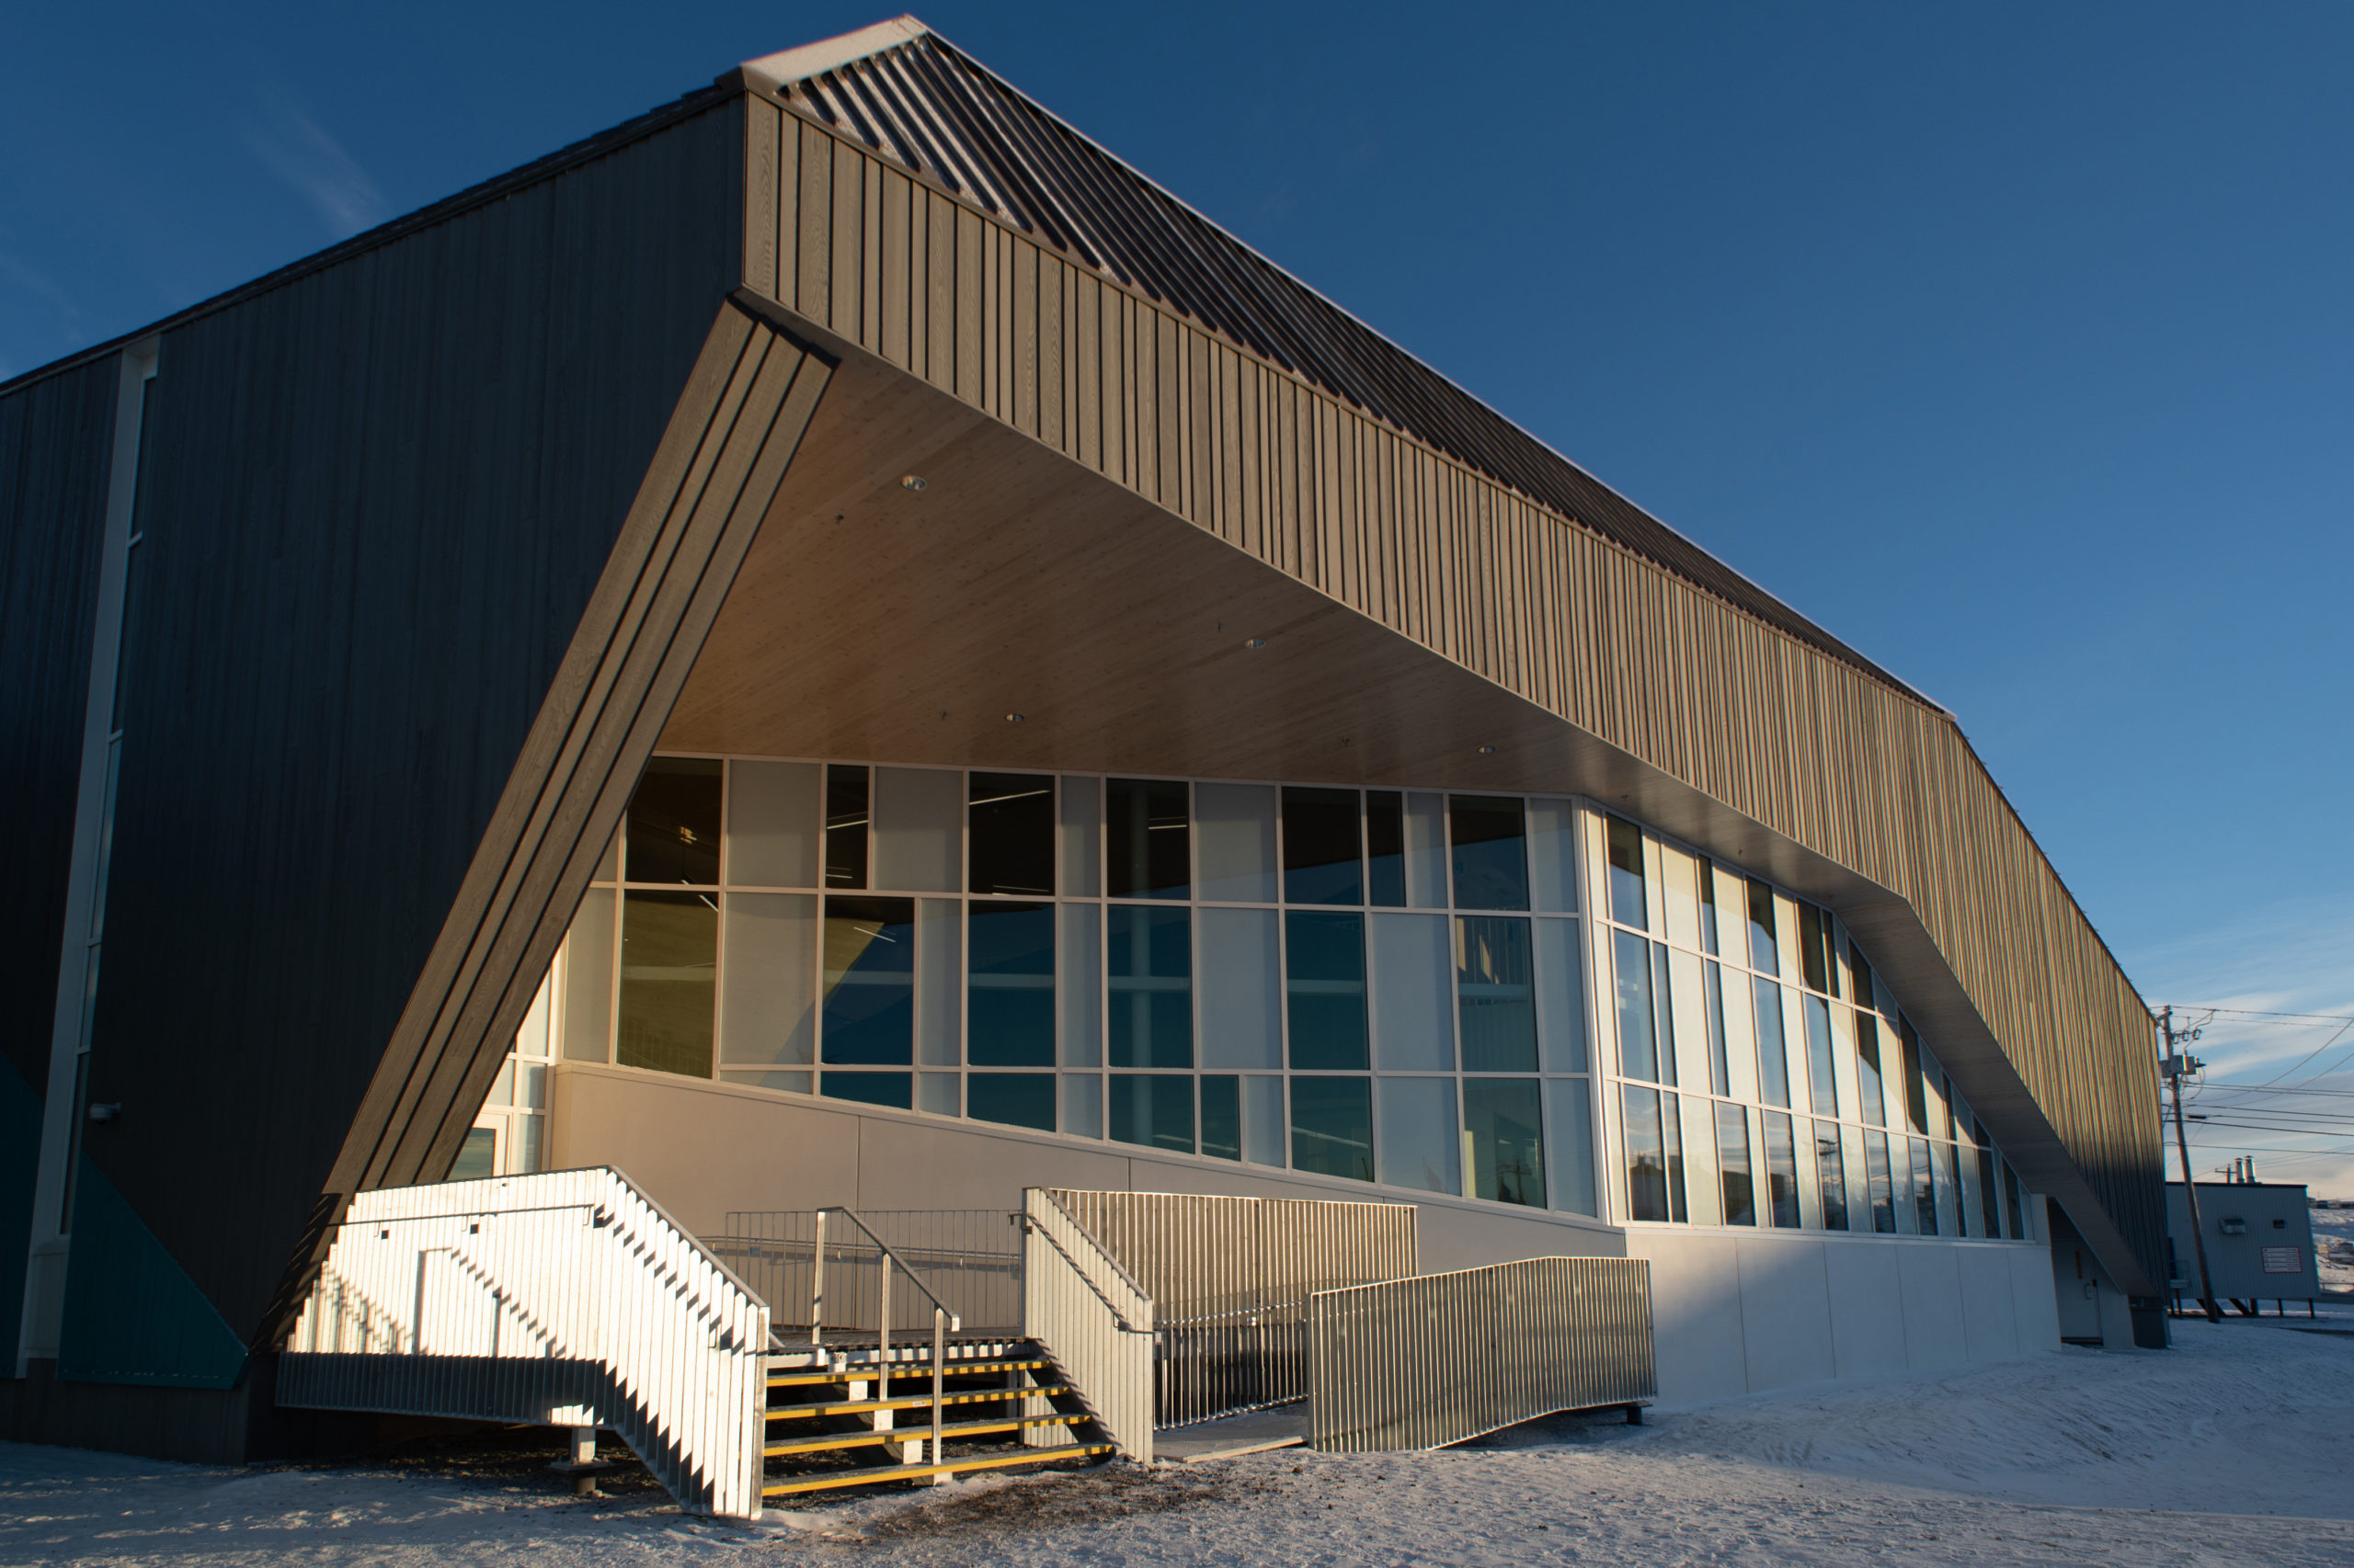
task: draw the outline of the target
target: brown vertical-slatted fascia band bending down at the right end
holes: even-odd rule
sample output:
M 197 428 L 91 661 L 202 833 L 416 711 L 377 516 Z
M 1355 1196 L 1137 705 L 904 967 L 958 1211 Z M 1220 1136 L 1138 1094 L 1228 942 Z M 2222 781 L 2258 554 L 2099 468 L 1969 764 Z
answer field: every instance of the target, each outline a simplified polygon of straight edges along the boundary
M 871 226 L 855 202 L 812 202 L 807 170 L 840 188 L 845 153 L 850 165 L 885 160 L 751 101 L 774 115 L 779 191 L 796 158 L 803 170 L 800 254 L 855 257 Z M 782 195 L 767 200 L 784 212 Z M 935 226 L 953 214 L 958 245 L 951 257 L 909 242 L 880 268 L 899 278 L 904 266 L 909 301 L 930 308 L 930 353 L 892 363 L 1904 897 L 2144 1271 L 2159 1274 L 2147 1010 L 1951 718 L 1029 233 L 925 186 L 918 200 Z M 836 228 L 822 233 L 826 224 Z M 1005 257 L 991 290 L 972 278 L 984 254 Z M 1024 292 L 1019 304 L 1010 290 Z M 779 275 L 777 297 L 885 353 L 864 313 L 807 280 L 793 290 Z M 1040 370 L 1078 410 L 1059 428 L 991 374 L 1008 351 L 1045 353 L 1033 341 L 1045 297 L 1078 301 L 1059 377 Z M 1186 370 L 1212 358 L 1231 363 L 1231 379 Z M 1217 407 L 1189 410 L 1186 398 Z M 1384 560 L 1398 563 L 1394 584 Z

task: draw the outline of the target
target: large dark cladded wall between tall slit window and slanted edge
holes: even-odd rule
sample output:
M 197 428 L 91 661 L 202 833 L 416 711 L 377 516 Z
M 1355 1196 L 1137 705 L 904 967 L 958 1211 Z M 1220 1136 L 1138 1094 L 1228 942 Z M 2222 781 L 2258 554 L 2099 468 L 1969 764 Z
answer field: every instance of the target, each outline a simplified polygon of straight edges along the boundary
M 742 275 L 742 137 L 723 99 L 162 334 L 89 1154 L 238 1335 Z

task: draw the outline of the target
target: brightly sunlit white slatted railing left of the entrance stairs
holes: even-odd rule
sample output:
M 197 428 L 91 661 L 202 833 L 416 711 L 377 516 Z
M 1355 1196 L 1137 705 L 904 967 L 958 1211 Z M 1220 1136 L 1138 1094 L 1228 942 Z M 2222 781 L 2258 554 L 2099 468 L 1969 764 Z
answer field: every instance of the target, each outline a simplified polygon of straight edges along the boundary
M 605 1427 L 680 1507 L 758 1516 L 767 1307 L 619 1170 L 358 1194 L 278 1403 Z

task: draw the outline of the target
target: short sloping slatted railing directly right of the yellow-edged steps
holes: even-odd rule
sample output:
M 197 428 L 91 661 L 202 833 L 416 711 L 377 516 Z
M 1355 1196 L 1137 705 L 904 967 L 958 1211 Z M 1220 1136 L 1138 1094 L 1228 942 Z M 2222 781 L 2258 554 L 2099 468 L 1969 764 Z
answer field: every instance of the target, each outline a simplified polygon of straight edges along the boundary
M 1022 1328 L 1121 1453 L 1153 1460 L 1153 1297 L 1055 1194 L 1022 1194 Z

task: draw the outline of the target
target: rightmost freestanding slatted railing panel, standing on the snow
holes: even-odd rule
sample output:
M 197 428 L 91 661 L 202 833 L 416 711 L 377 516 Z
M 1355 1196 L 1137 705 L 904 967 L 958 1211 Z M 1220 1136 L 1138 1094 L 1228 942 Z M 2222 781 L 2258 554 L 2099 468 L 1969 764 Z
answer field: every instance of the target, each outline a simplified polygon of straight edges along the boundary
M 1328 1453 L 1441 1448 L 1657 1396 L 1650 1264 L 1530 1257 L 1309 1297 L 1309 1431 Z

